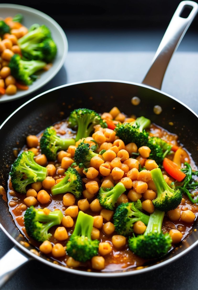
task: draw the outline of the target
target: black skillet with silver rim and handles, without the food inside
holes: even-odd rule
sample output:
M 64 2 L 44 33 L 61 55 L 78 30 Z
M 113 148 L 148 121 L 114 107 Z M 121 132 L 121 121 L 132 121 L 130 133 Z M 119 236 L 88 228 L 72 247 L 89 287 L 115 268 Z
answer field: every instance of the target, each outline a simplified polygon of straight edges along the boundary
M 187 18 L 180 17 L 184 8 L 192 9 Z M 182 1 L 179 4 L 142 84 L 116 80 L 92 80 L 66 84 L 34 97 L 13 112 L 0 126 L 0 154 L 2 157 L 0 176 L 1 185 L 5 190 L 7 190 L 10 165 L 15 160 L 13 148 L 21 148 L 26 142 L 27 135 L 37 134 L 47 126 L 66 118 L 72 109 L 82 107 L 82 104 L 84 107 L 94 109 L 99 113 L 109 111 L 114 104 L 128 115 L 132 112 L 135 112 L 137 116 L 144 115 L 167 130 L 170 130 L 169 123 L 172 122 L 174 126 L 171 127 L 170 131 L 179 135 L 179 141 L 189 152 L 192 152 L 192 159 L 198 164 L 198 157 L 195 154 L 198 146 L 195 126 L 198 116 L 185 104 L 160 90 L 171 56 L 197 11 L 198 4 L 195 2 Z M 131 99 L 134 96 L 141 99 L 138 106 L 131 104 Z M 153 107 L 155 105 L 162 107 L 160 115 L 154 113 Z M 62 115 L 62 112 L 64 115 Z M 14 127 L 13 124 L 15 124 Z M 181 248 L 171 252 L 158 264 L 136 271 L 93 273 L 62 267 L 54 264 L 52 260 L 47 260 L 44 255 L 35 255 L 35 249 L 31 245 L 26 248 L 24 246 L 25 238 L 20 235 L 16 228 L 8 211 L 7 203 L 3 198 L 0 202 L 0 222 L 2 231 L 15 244 L 15 247 L 0 260 L 0 286 L 22 264 L 33 258 L 62 271 L 78 275 L 96 277 L 127 276 L 162 267 L 186 254 L 198 244 L 198 232 L 193 231 L 187 242 L 182 242 Z M 198 224 L 195 223 L 194 227 L 198 229 Z M 10 264 L 11 257 L 12 264 Z

